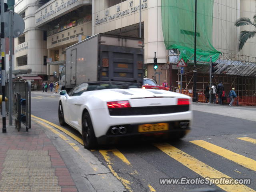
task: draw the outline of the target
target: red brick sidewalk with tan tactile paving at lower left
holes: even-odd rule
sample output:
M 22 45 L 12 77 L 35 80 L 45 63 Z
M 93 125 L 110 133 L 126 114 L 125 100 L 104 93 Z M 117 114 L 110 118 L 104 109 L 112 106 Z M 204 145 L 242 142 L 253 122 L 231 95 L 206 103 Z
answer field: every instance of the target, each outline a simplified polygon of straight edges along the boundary
M 8 121 L 6 122 L 8 125 Z M 70 172 L 39 125 L 18 132 L 0 119 L 0 192 L 77 192 Z

